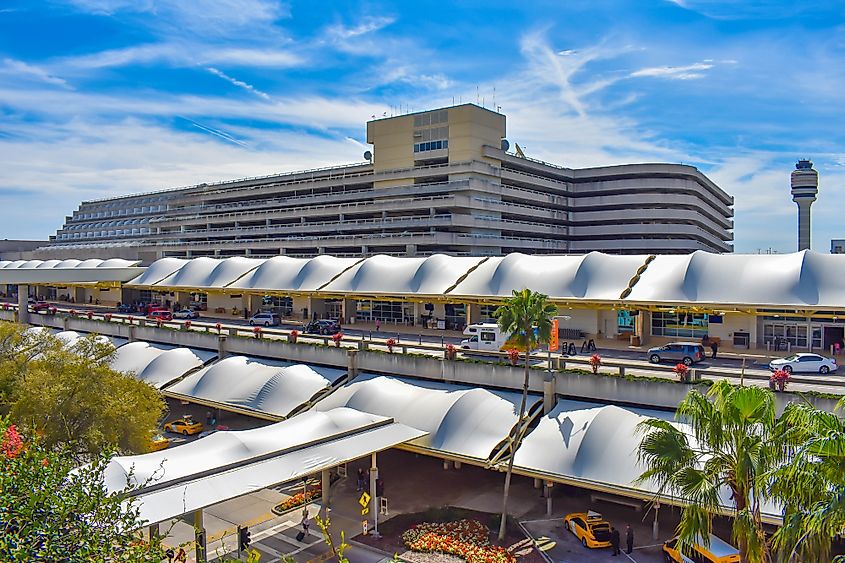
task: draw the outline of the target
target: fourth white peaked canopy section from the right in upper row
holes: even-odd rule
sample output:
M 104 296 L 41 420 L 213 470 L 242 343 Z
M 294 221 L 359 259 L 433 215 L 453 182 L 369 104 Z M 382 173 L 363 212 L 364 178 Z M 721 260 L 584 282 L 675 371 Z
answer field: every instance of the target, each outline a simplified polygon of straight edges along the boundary
M 335 258 L 334 256 L 315 258 L 274 256 L 229 287 L 268 292 L 316 291 L 358 261 L 358 258 Z

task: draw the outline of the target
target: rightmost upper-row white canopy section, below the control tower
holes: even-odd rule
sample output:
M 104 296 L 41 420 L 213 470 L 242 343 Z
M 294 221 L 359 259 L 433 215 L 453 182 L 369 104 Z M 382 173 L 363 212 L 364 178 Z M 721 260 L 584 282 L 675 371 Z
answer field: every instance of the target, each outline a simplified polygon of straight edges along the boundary
M 657 256 L 627 301 L 724 305 L 845 305 L 845 256 L 792 254 Z

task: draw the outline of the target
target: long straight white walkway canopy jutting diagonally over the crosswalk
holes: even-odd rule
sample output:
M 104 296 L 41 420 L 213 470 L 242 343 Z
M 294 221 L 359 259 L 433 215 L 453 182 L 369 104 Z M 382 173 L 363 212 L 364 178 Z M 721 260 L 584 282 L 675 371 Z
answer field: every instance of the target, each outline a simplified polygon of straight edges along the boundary
M 353 409 L 312 411 L 263 428 L 217 432 L 160 452 L 115 457 L 104 481 L 110 492 L 127 484 L 142 486 L 137 494 L 140 517 L 157 523 L 423 434 Z

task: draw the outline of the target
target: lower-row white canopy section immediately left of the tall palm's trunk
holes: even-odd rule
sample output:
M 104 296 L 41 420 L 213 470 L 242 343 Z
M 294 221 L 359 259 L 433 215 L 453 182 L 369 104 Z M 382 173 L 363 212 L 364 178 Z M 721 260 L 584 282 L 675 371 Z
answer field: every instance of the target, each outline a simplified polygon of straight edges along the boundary
M 529 396 L 526 412 L 538 400 Z M 389 416 L 428 433 L 413 442 L 416 446 L 487 460 L 516 424 L 520 401 L 519 393 L 361 375 L 314 409 L 351 407 Z

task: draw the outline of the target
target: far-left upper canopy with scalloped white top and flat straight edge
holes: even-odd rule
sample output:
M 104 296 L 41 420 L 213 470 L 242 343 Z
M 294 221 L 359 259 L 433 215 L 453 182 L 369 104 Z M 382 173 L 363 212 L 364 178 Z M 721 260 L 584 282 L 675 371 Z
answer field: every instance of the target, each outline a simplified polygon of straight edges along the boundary
M 0 260 L 0 283 L 125 282 L 143 272 L 140 260 Z

